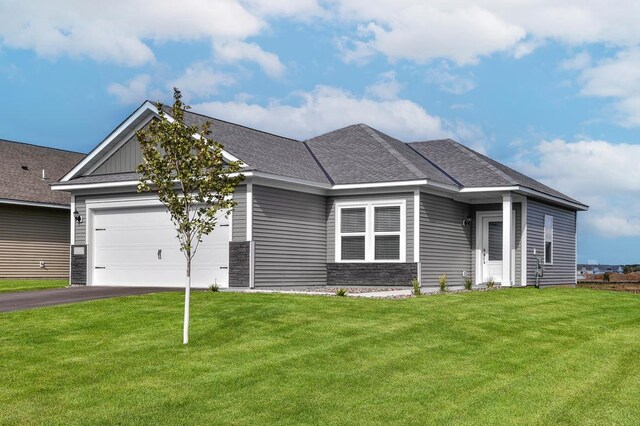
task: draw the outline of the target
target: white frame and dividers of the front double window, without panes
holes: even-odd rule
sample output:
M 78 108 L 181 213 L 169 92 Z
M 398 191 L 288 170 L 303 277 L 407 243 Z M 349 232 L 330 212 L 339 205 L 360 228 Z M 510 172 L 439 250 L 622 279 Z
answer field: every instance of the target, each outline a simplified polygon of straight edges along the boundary
M 375 232 L 374 212 L 376 207 L 400 207 L 400 232 Z M 365 209 L 365 232 L 342 233 L 342 209 Z M 336 263 L 405 263 L 407 258 L 407 202 L 406 200 L 341 201 L 335 203 L 335 261 Z M 342 260 L 342 236 L 364 235 L 364 260 Z M 400 235 L 400 259 L 375 259 L 375 237 Z

